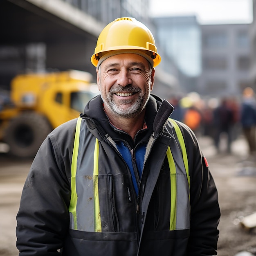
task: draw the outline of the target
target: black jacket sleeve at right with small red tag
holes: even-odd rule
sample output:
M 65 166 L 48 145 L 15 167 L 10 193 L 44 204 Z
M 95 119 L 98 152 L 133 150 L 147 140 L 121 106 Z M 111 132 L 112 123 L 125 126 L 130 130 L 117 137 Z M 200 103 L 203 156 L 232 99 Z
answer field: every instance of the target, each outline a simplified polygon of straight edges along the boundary
M 218 192 L 195 135 L 189 128 L 184 128 L 183 132 L 189 161 L 191 191 L 191 231 L 187 255 L 217 255 L 220 220 Z

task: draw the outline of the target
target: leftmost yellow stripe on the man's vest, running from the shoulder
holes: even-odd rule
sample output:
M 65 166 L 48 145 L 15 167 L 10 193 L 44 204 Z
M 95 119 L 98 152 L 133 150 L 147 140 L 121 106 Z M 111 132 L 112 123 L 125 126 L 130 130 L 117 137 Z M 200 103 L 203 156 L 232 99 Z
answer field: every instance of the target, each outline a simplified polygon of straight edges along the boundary
M 77 164 L 77 156 L 79 150 L 79 137 L 80 137 L 80 127 L 81 127 L 81 117 L 78 118 L 76 122 L 76 134 L 74 139 L 74 148 L 72 155 L 72 163 L 71 163 L 71 199 L 69 212 L 72 213 L 74 218 L 74 229 L 77 230 L 77 217 L 76 217 L 76 204 L 77 204 L 77 193 L 76 193 L 76 164 Z

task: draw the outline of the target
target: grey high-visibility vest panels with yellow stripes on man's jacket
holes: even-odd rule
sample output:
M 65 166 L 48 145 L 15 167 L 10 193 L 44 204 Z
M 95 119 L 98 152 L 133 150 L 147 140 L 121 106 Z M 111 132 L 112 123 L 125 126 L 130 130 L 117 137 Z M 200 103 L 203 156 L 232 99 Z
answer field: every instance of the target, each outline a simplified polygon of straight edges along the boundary
M 101 232 L 98 187 L 99 141 L 95 137 L 94 139 L 86 140 L 88 135 L 93 135 L 90 134 L 88 129 L 86 129 L 87 134 L 84 132 L 85 130 L 81 132 L 81 120 L 79 117 L 76 123 L 72 155 L 71 200 L 69 206 L 70 229 Z M 173 119 L 169 120 L 175 129 L 182 150 L 182 162 L 184 164 L 184 168 L 176 166 L 173 153 L 171 152 L 170 146 L 168 146 L 166 157 L 168 159 L 171 182 L 170 230 L 188 229 L 190 227 L 190 177 L 188 158 L 182 132 L 176 121 Z M 90 148 L 91 157 L 87 155 L 86 161 L 83 162 L 86 162 L 86 166 L 84 164 L 81 166 L 79 161 L 79 159 L 83 158 L 83 155 L 86 155 L 84 152 L 79 151 L 79 147 L 83 147 L 83 149 Z M 183 174 L 183 177 L 185 175 L 187 179 L 178 178 L 178 174 Z

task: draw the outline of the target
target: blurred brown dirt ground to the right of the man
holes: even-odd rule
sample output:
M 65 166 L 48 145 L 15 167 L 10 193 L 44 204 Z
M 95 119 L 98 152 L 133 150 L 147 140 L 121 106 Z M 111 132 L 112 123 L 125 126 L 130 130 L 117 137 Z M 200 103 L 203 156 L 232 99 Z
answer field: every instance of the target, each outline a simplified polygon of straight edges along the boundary
M 241 221 L 256 212 L 256 159 L 247 159 L 243 138 L 232 144 L 232 154 L 216 150 L 209 140 L 200 140 L 214 177 L 221 209 L 218 241 L 219 256 L 234 256 L 239 252 L 256 253 L 256 230 L 246 230 Z M 208 142 L 206 142 L 208 141 Z

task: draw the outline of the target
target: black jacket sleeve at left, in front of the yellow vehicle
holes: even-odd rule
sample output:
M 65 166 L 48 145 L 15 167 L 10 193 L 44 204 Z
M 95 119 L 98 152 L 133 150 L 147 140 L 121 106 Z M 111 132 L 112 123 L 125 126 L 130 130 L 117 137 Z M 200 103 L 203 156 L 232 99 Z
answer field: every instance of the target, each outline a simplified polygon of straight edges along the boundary
M 58 130 L 41 145 L 25 181 L 16 228 L 20 256 L 59 255 L 69 227 L 72 151 L 65 143 L 72 144 L 74 132 L 63 135 Z M 58 141 L 65 142 L 60 146 Z

